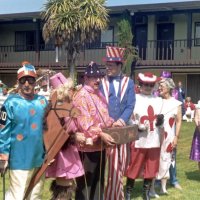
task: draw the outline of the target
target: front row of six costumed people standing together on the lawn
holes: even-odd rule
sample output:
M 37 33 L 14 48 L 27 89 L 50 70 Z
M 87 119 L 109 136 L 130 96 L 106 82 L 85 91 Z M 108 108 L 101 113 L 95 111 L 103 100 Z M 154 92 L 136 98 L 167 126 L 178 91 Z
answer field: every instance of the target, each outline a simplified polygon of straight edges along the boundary
M 74 87 L 62 73 L 50 77 L 49 101 L 34 93 L 34 66 L 25 63 L 18 70 L 19 91 L 7 98 L 0 119 L 0 169 L 9 164 L 10 174 L 6 200 L 21 200 L 25 194 L 26 199 L 42 199 L 45 177 L 54 179 L 52 200 L 72 199 L 73 193 L 76 200 L 130 200 L 137 178 L 144 179 L 143 199 L 157 195 L 156 179 L 161 180 L 161 192 L 167 193 L 169 169 L 176 165 L 182 102 L 172 97 L 171 78 L 150 72 L 138 74 L 135 94 L 133 80 L 122 73 L 123 51 L 107 47 L 106 74 L 91 62 L 83 86 Z M 161 97 L 153 95 L 156 83 Z M 137 140 L 116 143 L 109 130 L 127 126 L 138 127 Z M 49 161 L 52 149 L 55 156 Z M 27 194 L 46 159 L 44 175 Z

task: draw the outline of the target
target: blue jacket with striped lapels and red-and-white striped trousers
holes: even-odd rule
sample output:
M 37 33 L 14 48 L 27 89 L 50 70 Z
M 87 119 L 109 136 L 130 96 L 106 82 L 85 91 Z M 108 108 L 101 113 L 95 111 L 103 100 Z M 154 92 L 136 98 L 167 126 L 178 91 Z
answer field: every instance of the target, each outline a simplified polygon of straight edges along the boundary
M 105 77 L 102 80 L 102 90 L 108 102 L 110 116 L 114 118 L 115 121 L 117 121 L 118 119 L 122 119 L 125 123 L 128 123 L 128 120 L 130 119 L 135 104 L 133 80 L 121 75 L 118 86 L 118 94 L 120 93 L 120 95 L 116 96 L 114 90 L 109 90 L 111 81 L 117 82 L 116 79 L 114 78 L 113 80 L 109 80 L 108 77 Z M 123 184 L 119 183 L 119 181 L 121 181 L 124 175 L 127 159 L 126 148 L 126 144 L 123 144 L 116 145 L 115 148 L 110 148 L 108 150 L 108 159 L 110 167 L 108 172 L 109 179 L 105 193 L 105 195 L 107 196 L 105 197 L 105 199 L 122 198 L 122 196 L 116 197 L 115 195 L 120 195 L 121 191 L 123 191 Z M 118 188 L 116 188 L 116 185 L 114 183 L 118 184 Z M 114 191 L 116 193 L 114 193 Z

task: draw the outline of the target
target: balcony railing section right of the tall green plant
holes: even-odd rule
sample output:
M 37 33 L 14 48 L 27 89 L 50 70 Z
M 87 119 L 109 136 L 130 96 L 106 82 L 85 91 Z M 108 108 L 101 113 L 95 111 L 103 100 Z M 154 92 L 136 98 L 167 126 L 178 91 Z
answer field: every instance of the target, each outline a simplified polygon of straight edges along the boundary
M 199 65 L 200 39 L 149 40 L 138 47 L 138 66 Z

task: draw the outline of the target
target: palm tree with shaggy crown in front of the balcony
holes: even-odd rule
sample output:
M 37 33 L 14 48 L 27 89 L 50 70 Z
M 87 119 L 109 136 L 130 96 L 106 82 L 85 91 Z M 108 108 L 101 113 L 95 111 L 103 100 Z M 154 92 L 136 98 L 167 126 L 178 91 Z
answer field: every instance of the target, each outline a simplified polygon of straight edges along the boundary
M 48 0 L 42 12 L 45 41 L 66 50 L 66 66 L 74 78 L 75 60 L 81 47 L 107 27 L 105 0 Z

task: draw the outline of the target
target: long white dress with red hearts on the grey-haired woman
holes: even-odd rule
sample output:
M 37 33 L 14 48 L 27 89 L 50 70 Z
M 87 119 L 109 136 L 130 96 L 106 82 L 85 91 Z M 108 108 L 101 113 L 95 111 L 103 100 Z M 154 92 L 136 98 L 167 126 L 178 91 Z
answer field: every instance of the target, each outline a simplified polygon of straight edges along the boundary
M 160 166 L 157 179 L 169 178 L 170 165 L 175 162 L 172 155 L 172 142 L 176 130 L 175 117 L 178 112 L 178 106 L 181 104 L 182 102 L 176 100 L 174 97 L 163 99 L 162 113 L 164 114 L 164 134 L 162 137 Z

